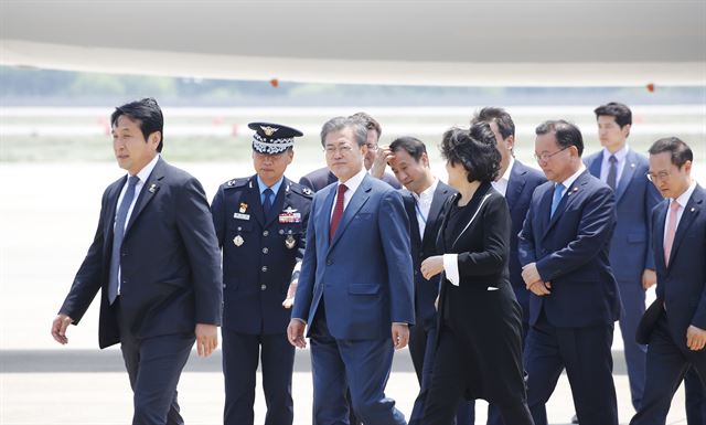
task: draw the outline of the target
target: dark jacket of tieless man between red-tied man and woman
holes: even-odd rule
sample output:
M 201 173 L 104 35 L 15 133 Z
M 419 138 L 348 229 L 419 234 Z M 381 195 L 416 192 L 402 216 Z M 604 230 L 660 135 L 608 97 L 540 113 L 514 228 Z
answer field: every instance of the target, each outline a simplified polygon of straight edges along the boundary
M 419 236 L 419 223 L 417 221 L 416 202 L 414 195 L 403 192 L 405 209 L 409 217 L 409 236 L 411 242 L 411 259 L 415 276 L 415 317 L 417 326 L 431 329 L 437 323 L 437 308 L 435 301 L 439 295 L 439 278 L 434 277 L 427 280 L 421 275 L 419 268 L 426 258 L 437 255 L 437 235 L 441 225 L 443 203 L 457 191 L 450 185 L 439 181 L 434 196 L 431 208 L 427 216 L 427 224 L 424 230 L 424 237 Z

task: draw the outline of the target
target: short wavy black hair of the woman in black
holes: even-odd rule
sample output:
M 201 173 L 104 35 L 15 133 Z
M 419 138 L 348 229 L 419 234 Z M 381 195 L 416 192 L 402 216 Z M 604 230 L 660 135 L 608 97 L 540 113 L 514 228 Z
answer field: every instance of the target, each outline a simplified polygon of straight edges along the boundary
M 468 181 L 492 182 L 500 172 L 500 151 L 488 123 L 477 123 L 470 130 L 451 128 L 441 138 L 441 157 L 468 171 Z

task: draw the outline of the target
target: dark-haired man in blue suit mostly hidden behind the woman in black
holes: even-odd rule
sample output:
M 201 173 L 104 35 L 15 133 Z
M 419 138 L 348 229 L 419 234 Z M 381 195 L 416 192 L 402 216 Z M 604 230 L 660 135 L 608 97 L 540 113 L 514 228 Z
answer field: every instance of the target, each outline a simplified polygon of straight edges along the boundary
M 498 150 L 500 151 L 500 172 L 493 188 L 507 201 L 512 227 L 510 230 L 510 283 L 522 306 L 522 342 L 527 337 L 530 329 L 530 291 L 522 279 L 522 267 L 517 255 L 517 234 L 522 231 L 522 224 L 527 215 L 532 193 L 535 188 L 547 181 L 539 170 L 527 167 L 515 158 L 515 123 L 507 111 L 502 108 L 485 107 L 478 111 L 471 119 L 471 125 L 488 123 L 495 135 Z M 502 425 L 503 421 L 496 406 L 488 408 L 488 424 Z

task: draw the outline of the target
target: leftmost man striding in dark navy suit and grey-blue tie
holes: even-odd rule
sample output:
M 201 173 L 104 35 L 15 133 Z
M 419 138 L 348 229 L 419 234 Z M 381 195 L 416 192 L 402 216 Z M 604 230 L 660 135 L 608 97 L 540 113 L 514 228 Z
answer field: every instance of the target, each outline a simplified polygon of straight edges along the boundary
M 98 229 L 52 323 L 66 343 L 99 289 L 99 346 L 120 342 L 135 393 L 133 425 L 183 424 L 176 383 L 196 341 L 217 346 L 218 245 L 201 183 L 161 159 L 162 111 L 148 98 L 116 108 L 113 147 L 126 177 L 101 201 Z

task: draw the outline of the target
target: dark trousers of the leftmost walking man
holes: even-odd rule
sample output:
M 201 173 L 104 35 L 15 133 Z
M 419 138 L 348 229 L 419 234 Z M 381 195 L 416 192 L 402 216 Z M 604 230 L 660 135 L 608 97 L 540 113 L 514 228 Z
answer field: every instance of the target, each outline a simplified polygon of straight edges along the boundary
M 126 326 L 119 301 L 120 350 L 132 387 L 132 425 L 183 425 L 176 384 L 195 341 L 193 333 L 139 339 Z

